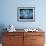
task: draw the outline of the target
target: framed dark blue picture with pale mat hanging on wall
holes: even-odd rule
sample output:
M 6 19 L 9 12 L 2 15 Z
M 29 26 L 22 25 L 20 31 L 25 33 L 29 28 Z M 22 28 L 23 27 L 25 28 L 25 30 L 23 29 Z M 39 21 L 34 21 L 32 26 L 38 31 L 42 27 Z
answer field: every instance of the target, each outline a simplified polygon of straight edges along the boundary
M 35 7 L 18 7 L 17 21 L 20 22 L 34 22 L 35 21 Z

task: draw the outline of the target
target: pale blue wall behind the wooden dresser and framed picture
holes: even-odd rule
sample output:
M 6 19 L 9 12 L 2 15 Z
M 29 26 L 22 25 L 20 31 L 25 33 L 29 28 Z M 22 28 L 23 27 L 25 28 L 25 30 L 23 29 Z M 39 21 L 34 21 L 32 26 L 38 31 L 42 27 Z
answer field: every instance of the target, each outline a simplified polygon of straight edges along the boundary
M 0 27 L 42 28 L 46 32 L 46 0 L 0 0 Z M 17 22 L 17 7 L 35 7 L 35 22 Z

